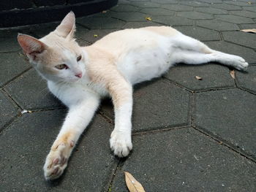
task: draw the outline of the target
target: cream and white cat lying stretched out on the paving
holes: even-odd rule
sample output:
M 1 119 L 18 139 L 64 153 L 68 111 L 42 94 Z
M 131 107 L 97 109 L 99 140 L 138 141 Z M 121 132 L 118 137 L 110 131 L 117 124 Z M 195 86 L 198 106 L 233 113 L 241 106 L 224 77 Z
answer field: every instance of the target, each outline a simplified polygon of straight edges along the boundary
M 80 47 L 74 33 L 75 15 L 69 12 L 55 31 L 42 39 L 18 34 L 29 62 L 47 80 L 50 92 L 69 107 L 45 160 L 46 180 L 64 172 L 103 97 L 113 100 L 115 128 L 110 148 L 122 158 L 132 150 L 132 85 L 159 77 L 177 63 L 216 61 L 238 70 L 248 66 L 243 58 L 212 50 L 170 26 L 115 31 L 88 47 Z

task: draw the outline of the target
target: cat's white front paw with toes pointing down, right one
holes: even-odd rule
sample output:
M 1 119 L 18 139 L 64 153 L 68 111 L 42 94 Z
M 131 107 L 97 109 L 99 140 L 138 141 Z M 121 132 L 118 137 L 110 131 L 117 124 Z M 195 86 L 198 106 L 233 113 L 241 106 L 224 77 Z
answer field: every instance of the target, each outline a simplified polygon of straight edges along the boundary
M 110 137 L 110 147 L 114 155 L 117 155 L 119 158 L 126 157 L 129 155 L 129 151 L 132 150 L 132 138 L 130 134 L 113 131 Z

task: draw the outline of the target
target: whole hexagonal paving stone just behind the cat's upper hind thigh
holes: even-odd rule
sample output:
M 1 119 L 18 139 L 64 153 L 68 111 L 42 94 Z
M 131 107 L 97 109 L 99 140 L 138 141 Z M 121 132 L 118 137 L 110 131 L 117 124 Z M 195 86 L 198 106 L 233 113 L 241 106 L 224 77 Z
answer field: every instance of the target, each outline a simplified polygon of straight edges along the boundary
M 177 26 L 176 29 L 181 31 L 181 33 L 188 35 L 189 37 L 193 37 L 195 39 L 199 39 L 200 41 L 214 41 L 219 40 L 219 33 L 217 31 L 200 28 L 194 26 Z

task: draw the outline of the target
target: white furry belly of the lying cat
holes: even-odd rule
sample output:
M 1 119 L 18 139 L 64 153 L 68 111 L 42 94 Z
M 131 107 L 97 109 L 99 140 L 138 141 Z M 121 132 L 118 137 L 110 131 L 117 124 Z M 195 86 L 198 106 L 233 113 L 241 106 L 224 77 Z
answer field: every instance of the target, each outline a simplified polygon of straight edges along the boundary
M 159 77 L 173 64 L 171 49 L 169 43 L 163 43 L 151 49 L 128 53 L 118 62 L 118 69 L 132 85 Z

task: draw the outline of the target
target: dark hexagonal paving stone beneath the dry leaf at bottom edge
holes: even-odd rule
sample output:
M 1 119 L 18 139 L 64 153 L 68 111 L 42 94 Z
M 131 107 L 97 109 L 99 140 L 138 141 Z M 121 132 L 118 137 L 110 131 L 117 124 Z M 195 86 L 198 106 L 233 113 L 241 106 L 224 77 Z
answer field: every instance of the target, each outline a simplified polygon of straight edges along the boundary
M 145 191 L 253 191 L 255 163 L 192 128 L 133 137 L 111 191 L 127 191 L 130 172 Z

